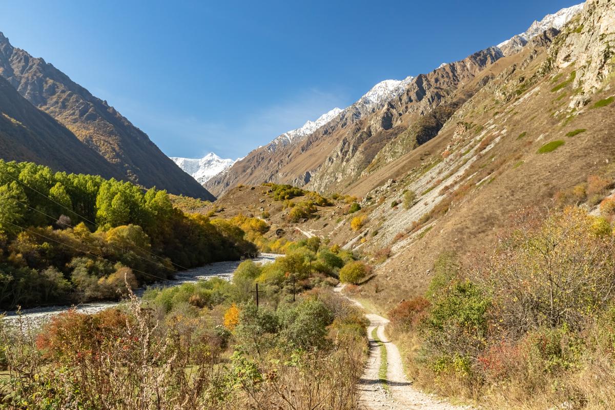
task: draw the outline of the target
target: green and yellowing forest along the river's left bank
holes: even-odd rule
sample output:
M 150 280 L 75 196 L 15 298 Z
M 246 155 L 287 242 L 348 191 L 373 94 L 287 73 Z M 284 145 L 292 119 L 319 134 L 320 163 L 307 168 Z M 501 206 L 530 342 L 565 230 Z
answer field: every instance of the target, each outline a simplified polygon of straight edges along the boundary
M 244 231 L 166 191 L 0 160 L 0 308 L 117 299 L 177 270 L 254 256 Z

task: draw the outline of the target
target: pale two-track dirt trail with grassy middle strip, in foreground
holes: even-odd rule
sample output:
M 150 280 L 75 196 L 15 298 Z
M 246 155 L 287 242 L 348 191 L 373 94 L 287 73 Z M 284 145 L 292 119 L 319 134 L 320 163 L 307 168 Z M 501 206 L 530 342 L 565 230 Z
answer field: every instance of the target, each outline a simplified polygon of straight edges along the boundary
M 341 293 L 344 286 L 336 286 L 335 291 Z M 349 301 L 363 309 L 363 306 L 354 299 Z M 434 395 L 416 390 L 408 381 L 403 371 L 402 356 L 397 346 L 386 336 L 384 329 L 389 320 L 375 313 L 365 313 L 370 321 L 367 328 L 367 337 L 370 342 L 369 357 L 363 376 L 359 382 L 362 408 L 368 410 L 470 410 L 470 406 L 456 406 Z M 379 341 L 386 348 L 387 375 L 386 380 L 379 377 L 382 363 L 381 349 L 378 342 L 371 337 L 376 329 Z

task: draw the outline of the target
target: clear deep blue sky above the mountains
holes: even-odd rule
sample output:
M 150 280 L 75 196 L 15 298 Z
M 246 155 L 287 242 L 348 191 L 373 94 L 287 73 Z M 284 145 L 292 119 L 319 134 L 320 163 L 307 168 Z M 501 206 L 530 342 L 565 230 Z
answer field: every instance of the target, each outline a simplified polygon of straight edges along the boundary
M 577 2 L 11 0 L 0 31 L 165 154 L 239 157 Z

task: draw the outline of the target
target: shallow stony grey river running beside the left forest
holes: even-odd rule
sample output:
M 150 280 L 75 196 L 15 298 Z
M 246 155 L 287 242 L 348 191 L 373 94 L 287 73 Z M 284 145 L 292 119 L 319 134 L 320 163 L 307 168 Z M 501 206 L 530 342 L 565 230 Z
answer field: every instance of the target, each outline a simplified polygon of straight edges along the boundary
M 261 253 L 258 258 L 252 260 L 255 263 L 263 264 L 267 262 L 273 262 L 279 256 L 284 255 L 275 253 Z M 198 282 L 199 280 L 204 280 L 211 277 L 219 277 L 225 280 L 231 280 L 233 272 L 235 272 L 241 262 L 242 261 L 214 262 L 205 266 L 183 270 L 175 275 L 175 280 L 166 280 L 164 282 L 157 283 L 155 286 L 167 288 L 170 286 L 183 285 L 184 283 L 194 283 Z M 135 293 L 140 295 L 143 294 L 143 291 L 143 289 L 139 289 L 135 291 Z M 82 303 L 76 306 L 69 305 L 34 307 L 32 309 L 23 309 L 22 318 L 25 318 L 28 321 L 41 323 L 48 320 L 50 317 L 57 315 L 58 313 L 66 312 L 66 310 L 73 308 L 77 312 L 81 313 L 96 313 L 100 312 L 101 310 L 108 309 L 109 307 L 117 306 L 118 304 L 119 302 L 92 302 Z M 6 312 L 4 320 L 14 322 L 17 321 L 17 318 L 18 316 L 16 312 Z

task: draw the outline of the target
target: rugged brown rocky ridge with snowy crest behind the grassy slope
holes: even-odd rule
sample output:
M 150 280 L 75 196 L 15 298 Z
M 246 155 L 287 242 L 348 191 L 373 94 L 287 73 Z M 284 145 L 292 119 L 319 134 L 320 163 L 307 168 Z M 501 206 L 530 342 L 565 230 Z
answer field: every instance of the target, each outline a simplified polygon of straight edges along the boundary
M 464 60 L 443 63 L 431 73 L 376 84 L 314 132 L 293 143 L 255 149 L 205 187 L 218 196 L 237 184 L 265 181 L 346 192 L 360 179 L 434 138 L 454 112 L 493 79 L 491 67 L 496 61 L 515 55 L 552 26 L 561 28 L 581 8 L 547 15 L 508 41 Z

